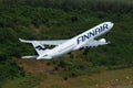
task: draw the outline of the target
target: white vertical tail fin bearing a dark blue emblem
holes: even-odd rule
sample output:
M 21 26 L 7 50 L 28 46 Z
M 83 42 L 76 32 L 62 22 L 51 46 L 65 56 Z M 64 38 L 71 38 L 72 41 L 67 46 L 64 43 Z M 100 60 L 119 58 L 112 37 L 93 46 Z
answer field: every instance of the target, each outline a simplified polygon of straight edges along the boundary
M 44 53 L 44 51 L 47 50 L 43 45 L 41 45 L 39 42 L 33 41 L 31 42 L 34 50 L 37 51 L 37 53 L 40 55 L 42 55 Z

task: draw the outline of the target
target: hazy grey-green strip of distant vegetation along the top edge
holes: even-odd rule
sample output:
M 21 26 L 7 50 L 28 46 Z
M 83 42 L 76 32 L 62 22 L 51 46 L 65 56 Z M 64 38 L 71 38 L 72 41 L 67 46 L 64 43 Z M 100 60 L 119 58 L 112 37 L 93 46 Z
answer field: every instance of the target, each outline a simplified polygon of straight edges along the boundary
M 1 4 L 10 6 L 32 6 L 44 8 L 63 9 L 64 11 L 78 10 L 92 10 L 92 11 L 108 11 L 129 13 L 133 12 L 132 0 L 0 0 Z

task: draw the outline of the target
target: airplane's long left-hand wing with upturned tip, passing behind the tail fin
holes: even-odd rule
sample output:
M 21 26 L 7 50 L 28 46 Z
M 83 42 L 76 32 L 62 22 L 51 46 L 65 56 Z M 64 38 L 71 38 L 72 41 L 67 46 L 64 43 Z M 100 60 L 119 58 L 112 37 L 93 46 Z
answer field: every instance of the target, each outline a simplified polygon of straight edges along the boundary
M 25 41 L 25 40 L 22 40 L 22 38 L 19 38 L 21 42 L 23 43 L 32 43 L 34 41 Z M 66 42 L 69 40 L 53 40 L 53 41 L 37 41 L 39 42 L 40 44 L 42 45 L 59 45 L 59 44 L 62 44 L 64 42 Z

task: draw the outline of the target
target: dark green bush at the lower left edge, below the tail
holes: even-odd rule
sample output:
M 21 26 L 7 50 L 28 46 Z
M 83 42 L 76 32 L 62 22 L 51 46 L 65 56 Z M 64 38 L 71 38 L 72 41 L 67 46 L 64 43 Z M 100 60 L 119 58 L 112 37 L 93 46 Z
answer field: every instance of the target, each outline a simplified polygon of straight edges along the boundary
M 0 86 L 7 80 L 22 76 L 24 76 L 24 72 L 16 64 L 14 61 L 7 59 L 0 64 Z

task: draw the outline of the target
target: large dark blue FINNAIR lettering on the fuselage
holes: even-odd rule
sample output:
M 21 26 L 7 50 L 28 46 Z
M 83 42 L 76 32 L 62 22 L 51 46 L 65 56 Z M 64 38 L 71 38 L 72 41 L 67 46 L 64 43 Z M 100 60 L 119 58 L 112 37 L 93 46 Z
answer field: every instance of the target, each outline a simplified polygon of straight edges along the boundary
M 99 26 L 99 28 L 95 28 L 95 29 L 92 30 L 91 32 L 88 32 L 86 34 L 83 34 L 83 35 L 79 36 L 79 37 L 76 38 L 76 42 L 78 42 L 78 44 L 80 44 L 81 42 L 84 42 L 85 40 L 88 40 L 88 38 L 96 35 L 96 34 L 103 32 L 103 31 L 106 30 L 106 29 L 109 29 L 109 25 L 108 25 L 108 24 L 103 24 L 103 25 L 101 25 L 101 26 Z

